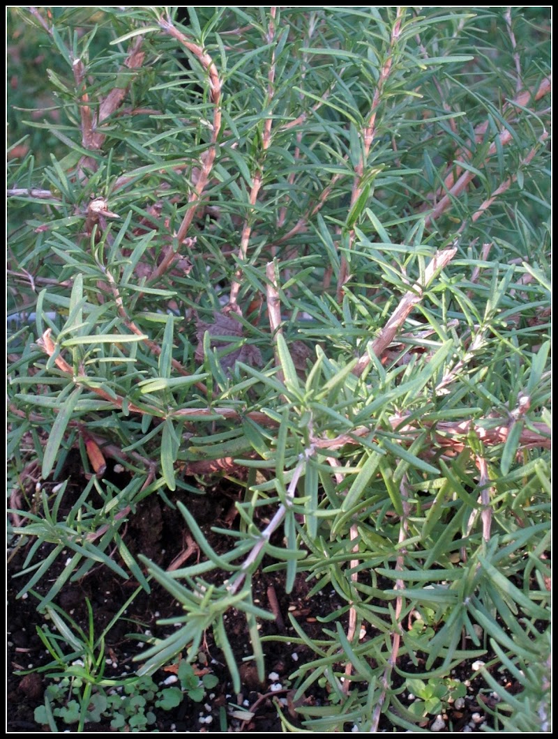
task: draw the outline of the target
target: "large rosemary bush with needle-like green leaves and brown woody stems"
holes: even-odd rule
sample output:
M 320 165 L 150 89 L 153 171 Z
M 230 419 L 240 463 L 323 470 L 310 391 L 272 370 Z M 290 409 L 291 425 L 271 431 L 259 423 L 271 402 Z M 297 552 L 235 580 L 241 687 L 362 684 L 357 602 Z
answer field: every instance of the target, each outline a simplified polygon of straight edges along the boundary
M 64 485 L 16 506 L 21 594 L 68 550 L 40 610 L 99 562 L 155 579 L 183 614 L 141 672 L 212 630 L 238 691 L 225 615 L 263 676 L 265 556 L 287 591 L 344 602 L 319 643 L 290 616 L 315 654 L 294 700 L 330 694 L 306 729 L 412 727 L 406 678 L 487 653 L 487 691 L 514 672 L 522 730 L 548 726 L 529 675 L 549 649 L 550 80 L 529 12 L 21 10 L 53 60 L 55 116 L 32 124 L 58 143 L 13 141 L 9 167 L 10 480 L 57 480 L 76 447 L 89 473 L 69 517 Z M 221 554 L 188 511 L 216 475 L 239 490 Z M 165 571 L 123 531 L 175 490 L 202 557 Z

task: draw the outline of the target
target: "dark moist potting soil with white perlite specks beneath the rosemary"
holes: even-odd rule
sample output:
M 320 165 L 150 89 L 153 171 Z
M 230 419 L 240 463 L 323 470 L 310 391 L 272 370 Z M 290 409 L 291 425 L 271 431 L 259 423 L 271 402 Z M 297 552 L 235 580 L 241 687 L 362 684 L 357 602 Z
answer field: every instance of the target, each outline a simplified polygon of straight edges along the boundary
M 106 477 L 112 473 L 116 484 L 126 484 L 126 480 L 118 479 L 111 469 L 107 471 Z M 79 458 L 70 455 L 68 469 L 62 478 L 70 476 L 70 484 L 64 493 L 64 505 L 67 510 L 72 507 L 75 500 L 83 490 L 83 480 L 81 480 L 81 469 Z M 45 486 L 55 483 L 44 483 Z M 191 480 L 191 484 L 199 486 L 195 480 Z M 183 491 L 177 491 L 172 494 L 169 491 L 166 494 L 169 500 L 175 503 L 182 500 L 188 505 L 189 511 L 197 520 L 200 528 L 208 537 L 209 542 L 217 553 L 228 551 L 231 546 L 231 539 L 224 537 L 222 534 L 215 534 L 211 531 L 211 527 L 218 525 L 221 528 L 225 526 L 234 528 L 234 503 L 237 500 L 238 489 L 235 488 L 228 480 L 218 480 L 214 486 L 200 488 L 200 495 L 185 494 Z M 21 508 L 24 504 L 21 505 Z M 269 511 L 265 508 L 259 509 L 259 515 L 262 519 L 268 515 Z M 59 511 L 58 520 L 64 520 L 64 510 Z M 200 552 L 197 547 L 192 546 L 191 537 L 186 531 L 186 524 L 177 510 L 172 510 L 169 505 L 163 503 L 156 494 L 147 497 L 139 505 L 133 514 L 129 514 L 126 528 L 122 528 L 120 533 L 123 536 L 126 546 L 133 556 L 144 554 L 160 568 L 169 568 L 171 563 L 176 562 L 180 558 L 180 566 L 193 565 L 198 561 Z M 281 545 L 280 535 L 278 542 Z M 52 679 L 47 678 L 45 673 L 28 672 L 21 674 L 33 668 L 41 667 L 52 661 L 51 656 L 45 650 L 44 644 L 41 642 L 37 633 L 38 626 L 44 626 L 45 619 L 36 610 L 37 600 L 31 594 L 23 598 L 17 598 L 17 593 L 24 584 L 30 579 L 33 573 L 18 577 L 18 573 L 24 566 L 24 561 L 29 554 L 33 541 L 27 539 L 26 542 L 12 542 L 13 550 L 8 565 L 8 695 L 7 705 L 9 706 L 7 730 L 9 732 L 30 732 L 37 731 L 39 726 L 35 723 L 34 712 L 37 706 L 44 704 L 44 690 L 48 684 L 52 683 Z M 50 544 L 45 544 L 39 549 L 33 558 L 33 562 L 39 562 L 44 559 L 47 554 L 52 551 Z M 203 555 L 202 555 L 203 556 Z M 51 588 L 52 582 L 64 569 L 67 562 L 68 553 L 62 552 L 55 563 L 52 565 L 47 575 L 41 577 L 35 590 L 37 593 L 44 595 Z M 186 557 L 186 559 L 184 559 Z M 118 556 L 115 556 L 118 562 Z M 262 636 L 278 636 L 287 637 L 294 636 L 293 627 L 290 626 L 288 613 L 295 616 L 299 624 L 302 625 L 304 631 L 312 639 L 324 638 L 322 629 L 324 624 L 319 621 L 320 617 L 329 616 L 334 610 L 342 607 L 344 602 L 338 598 L 334 590 L 330 593 L 320 593 L 311 598 L 308 593 L 311 585 L 306 582 L 304 574 L 297 577 L 294 588 L 291 593 L 285 593 L 284 575 L 283 573 L 265 573 L 265 565 L 269 562 L 262 563 L 262 570 L 259 571 L 257 577 L 254 578 L 254 602 L 265 610 L 276 614 L 274 621 L 261 621 L 260 633 Z M 206 578 L 209 579 L 209 578 Z M 386 588 L 391 587 L 391 582 L 386 582 Z M 141 590 L 133 599 L 126 611 L 125 619 L 118 619 L 115 625 L 109 630 L 106 636 L 105 659 L 106 670 L 104 676 L 106 678 L 118 678 L 123 674 L 133 675 L 137 670 L 137 662 L 132 659 L 145 651 L 146 635 L 168 636 L 172 632 L 172 627 L 161 626 L 157 621 L 161 619 L 173 619 L 181 615 L 180 606 L 172 598 L 166 590 L 163 590 L 156 582 L 151 582 L 151 593 Z M 137 588 L 137 582 L 130 578 L 124 580 L 112 571 L 109 571 L 104 565 L 92 568 L 78 582 L 67 582 L 55 598 L 55 603 L 64 609 L 66 613 L 72 616 L 84 630 L 87 629 L 88 612 L 86 601 L 92 605 L 95 622 L 95 635 L 101 633 L 107 624 L 113 619 L 115 613 L 118 612 L 123 603 L 132 595 Z M 234 648 L 239 672 L 242 678 L 242 689 L 240 694 L 234 694 L 231 679 L 222 653 L 215 645 L 213 636 L 210 632 L 206 633 L 202 647 L 200 647 L 200 655 L 198 662 L 194 665 L 200 674 L 211 672 L 215 675 L 219 682 L 217 686 L 207 691 L 205 698 L 201 702 L 192 701 L 185 695 L 180 705 L 170 710 L 154 709 L 156 723 L 149 726 L 148 731 L 160 732 L 211 732 L 211 731 L 242 731 L 242 732 L 281 732 L 282 725 L 279 720 L 278 711 L 274 701 L 279 701 L 282 712 L 291 723 L 298 728 L 303 728 L 299 715 L 293 706 L 292 683 L 289 676 L 304 664 L 304 661 L 310 661 L 316 658 L 313 653 L 304 645 L 289 644 L 287 641 L 266 641 L 265 650 L 265 681 L 261 683 L 256 674 L 256 668 L 252 661 L 243 661 L 251 654 L 250 639 L 248 637 L 248 629 L 245 615 L 230 610 L 227 614 L 227 630 L 231 645 Z M 347 630 L 347 623 L 342 624 L 344 630 Z M 328 624 L 325 624 L 328 627 Z M 329 627 L 331 628 L 330 624 Z M 136 636 L 137 635 L 137 636 Z M 141 641 L 143 639 L 143 641 Z M 486 658 L 485 658 L 486 659 Z M 405 670 L 409 670 L 410 665 L 401 665 Z M 153 676 L 157 685 L 163 686 L 163 681 L 170 684 L 174 678 L 173 667 L 170 666 L 169 671 L 159 671 Z M 174 667 L 174 672 L 176 666 Z M 20 673 L 20 674 L 18 674 Z M 463 666 L 463 674 L 456 674 L 456 678 L 466 680 L 472 674 L 470 666 Z M 308 692 L 301 699 L 302 703 L 313 706 L 327 705 L 327 694 L 320 694 L 320 689 L 316 688 L 316 683 L 310 688 L 312 692 Z M 317 692 L 316 692 L 317 691 Z M 466 731 L 480 730 L 486 715 L 482 720 L 477 721 L 478 726 L 474 725 L 474 718 L 483 712 L 483 706 L 477 702 L 476 689 L 474 685 L 469 687 L 470 696 L 466 698 L 459 709 L 455 709 L 452 715 L 452 725 L 454 730 L 463 730 L 468 726 Z M 404 699 L 400 696 L 400 699 Z M 300 705 L 297 704 L 297 705 Z M 235 709 L 234 706 L 237 706 Z M 241 709 L 253 714 L 250 718 L 242 718 Z M 246 714 L 248 715 L 248 714 Z M 226 728 L 220 721 L 226 717 Z M 429 723 L 433 723 L 435 717 L 432 717 Z M 110 719 L 104 719 L 104 723 L 88 723 L 85 726 L 86 732 L 106 732 L 112 731 L 109 726 Z M 57 719 L 58 728 L 64 730 L 69 728 L 75 729 L 73 726 L 64 726 L 60 718 Z M 474 726 L 470 726 L 473 724 Z M 448 722 L 446 721 L 446 726 Z M 428 729 L 428 726 L 425 726 Z M 42 726 L 44 731 L 50 731 L 48 726 Z M 351 731 L 352 724 L 346 727 L 347 731 Z M 392 726 L 385 718 L 381 719 L 380 729 L 392 731 Z M 431 730 L 440 730 L 432 728 Z M 448 729 L 441 729 L 442 731 Z

